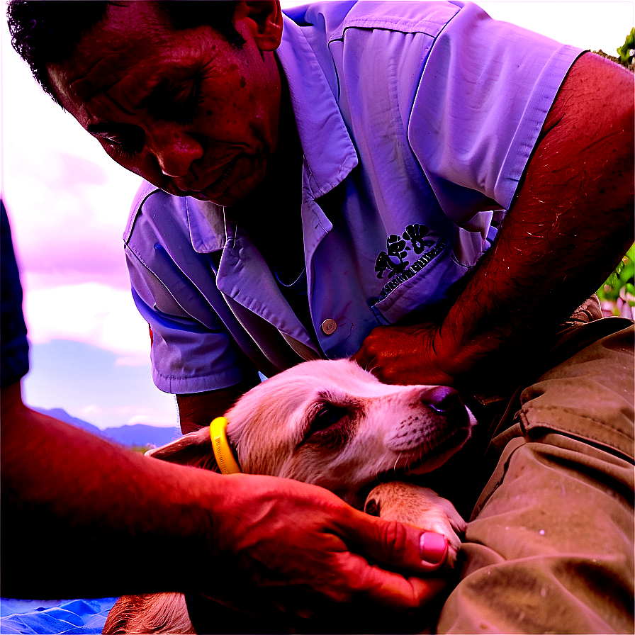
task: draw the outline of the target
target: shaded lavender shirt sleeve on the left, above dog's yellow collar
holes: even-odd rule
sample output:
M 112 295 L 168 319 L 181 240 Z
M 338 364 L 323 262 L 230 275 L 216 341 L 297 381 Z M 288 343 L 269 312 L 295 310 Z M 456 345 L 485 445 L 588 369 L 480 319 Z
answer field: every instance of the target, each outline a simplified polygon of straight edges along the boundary
M 133 299 L 150 325 L 152 379 L 175 394 L 220 390 L 256 374 L 207 297 L 219 292 L 208 254 L 191 247 L 181 203 L 163 193 L 137 200 L 125 240 Z

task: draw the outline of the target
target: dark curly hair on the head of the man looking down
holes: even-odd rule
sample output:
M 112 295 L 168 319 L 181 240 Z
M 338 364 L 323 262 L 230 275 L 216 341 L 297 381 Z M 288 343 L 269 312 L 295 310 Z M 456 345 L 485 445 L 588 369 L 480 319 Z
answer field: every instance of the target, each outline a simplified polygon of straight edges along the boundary
M 40 86 L 57 103 L 60 100 L 50 84 L 47 64 L 69 60 L 82 35 L 106 16 L 109 4 L 120 5 L 113 0 L 11 0 L 9 3 L 11 44 L 28 62 Z M 232 45 L 242 47 L 245 43 L 233 23 L 235 1 L 169 0 L 157 1 L 156 5 L 176 29 L 208 24 Z

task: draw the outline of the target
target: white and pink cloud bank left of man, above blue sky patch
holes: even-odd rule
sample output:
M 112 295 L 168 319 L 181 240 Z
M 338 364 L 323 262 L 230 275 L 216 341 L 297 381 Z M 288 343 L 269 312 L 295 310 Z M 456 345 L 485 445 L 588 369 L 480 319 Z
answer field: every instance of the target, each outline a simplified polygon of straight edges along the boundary
M 35 83 L 2 23 L 2 196 L 31 342 L 69 339 L 149 363 L 122 235 L 140 177 Z M 6 37 L 5 37 L 6 36 Z

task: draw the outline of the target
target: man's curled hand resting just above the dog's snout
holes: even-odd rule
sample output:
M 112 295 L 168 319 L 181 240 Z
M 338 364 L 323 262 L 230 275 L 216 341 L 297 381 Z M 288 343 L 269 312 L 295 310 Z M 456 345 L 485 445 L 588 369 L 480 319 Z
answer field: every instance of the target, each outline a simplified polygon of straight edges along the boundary
M 438 336 L 433 324 L 379 326 L 352 359 L 383 383 L 452 386 L 455 377 L 441 367 Z

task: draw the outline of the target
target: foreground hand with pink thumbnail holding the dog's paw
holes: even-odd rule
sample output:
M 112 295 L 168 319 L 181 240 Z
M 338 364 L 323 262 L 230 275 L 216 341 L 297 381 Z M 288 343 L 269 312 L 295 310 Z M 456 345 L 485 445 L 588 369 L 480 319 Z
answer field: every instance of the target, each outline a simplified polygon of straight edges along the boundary
M 444 536 L 365 515 L 315 485 L 245 474 L 223 479 L 227 495 L 213 522 L 221 557 L 229 556 L 220 576 L 225 605 L 252 613 L 274 605 L 313 617 L 329 610 L 327 601 L 331 610 L 332 602 L 353 603 L 378 615 L 421 609 L 444 589 L 445 580 L 427 575 L 445 562 Z M 232 580 L 242 594 L 232 591 Z

